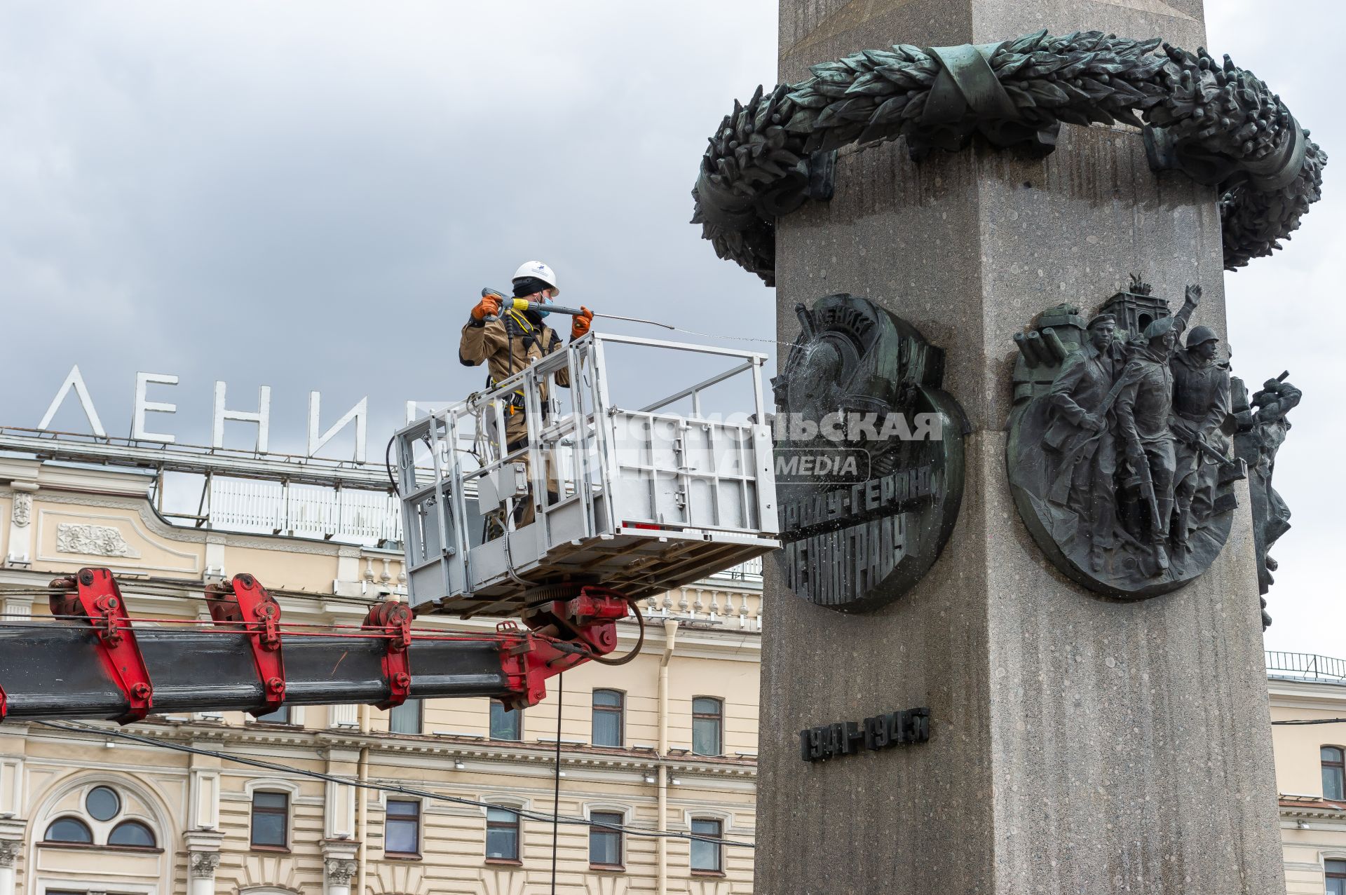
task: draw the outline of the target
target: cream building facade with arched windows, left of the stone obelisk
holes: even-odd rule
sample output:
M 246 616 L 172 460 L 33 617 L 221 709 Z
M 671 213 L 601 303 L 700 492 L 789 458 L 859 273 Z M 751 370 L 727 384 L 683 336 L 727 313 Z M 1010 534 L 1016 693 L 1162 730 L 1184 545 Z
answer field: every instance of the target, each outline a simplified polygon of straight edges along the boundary
M 34 588 L 82 567 L 110 568 L 133 618 L 164 619 L 137 624 L 209 619 L 203 584 L 238 572 L 285 622 L 358 624 L 401 591 L 396 549 L 175 525 L 153 486 L 147 471 L 0 456 L 0 622 L 47 614 Z M 454 699 L 125 728 L 148 743 L 113 724 L 5 723 L 0 895 L 528 895 L 552 891 L 553 872 L 557 892 L 750 892 L 750 848 L 686 836 L 754 838 L 759 595 L 736 573 L 646 600 L 633 662 L 552 678 L 524 712 Z M 619 653 L 637 642 L 622 627 Z M 553 829 L 553 808 L 577 822 Z

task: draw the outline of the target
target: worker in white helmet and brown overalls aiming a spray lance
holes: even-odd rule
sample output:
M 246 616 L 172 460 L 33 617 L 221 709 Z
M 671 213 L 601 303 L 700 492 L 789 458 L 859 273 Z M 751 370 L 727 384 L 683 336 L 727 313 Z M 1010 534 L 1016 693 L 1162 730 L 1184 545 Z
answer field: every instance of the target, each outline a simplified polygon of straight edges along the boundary
M 514 271 L 514 297 L 526 299 L 534 304 L 548 304 L 560 295 L 556 285 L 556 272 L 541 261 L 525 261 Z M 571 341 L 580 338 L 590 331 L 594 322 L 594 312 L 580 307 L 581 314 L 571 319 Z M 534 359 L 551 354 L 561 347 L 561 338 L 556 330 L 546 326 L 542 319 L 548 311 L 528 310 L 516 311 L 513 308 L 501 312 L 501 300 L 486 295 L 472 308 L 467 324 L 463 326 L 463 338 L 458 343 L 458 359 L 463 366 L 478 366 L 486 363 L 486 388 L 495 388 L 497 382 L 509 378 L 511 373 L 522 370 Z M 487 318 L 491 318 L 487 320 Z M 569 386 L 569 370 L 561 367 L 556 371 L 556 384 Z M 542 402 L 546 402 L 546 384 L 542 384 Z M 516 392 L 506 409 L 505 419 L 505 450 L 517 451 L 528 445 L 528 423 L 524 419 L 524 393 Z M 548 458 L 546 463 L 546 490 L 548 503 L 557 499 L 559 486 L 556 471 Z M 516 510 L 514 524 L 528 525 L 533 521 L 533 502 L 522 501 Z M 497 524 L 499 521 L 497 520 Z M 489 528 L 495 528 L 489 525 Z M 501 526 L 502 528 L 502 526 Z M 490 536 L 489 536 L 490 537 Z

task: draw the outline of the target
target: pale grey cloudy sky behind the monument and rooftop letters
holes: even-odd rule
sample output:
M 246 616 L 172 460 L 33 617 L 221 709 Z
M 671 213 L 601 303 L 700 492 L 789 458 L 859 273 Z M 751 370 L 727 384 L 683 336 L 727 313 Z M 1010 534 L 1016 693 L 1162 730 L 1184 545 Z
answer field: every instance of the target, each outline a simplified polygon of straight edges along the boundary
M 1213 52 L 1346 152 L 1339 3 L 1207 0 L 1207 17 Z M 272 450 L 303 450 L 311 389 L 324 425 L 369 396 L 377 452 L 405 400 L 481 384 L 456 363 L 458 326 L 530 257 L 565 301 L 769 338 L 773 292 L 686 219 L 705 136 L 774 78 L 774 0 L 7 0 L 0 423 L 36 425 L 78 361 L 116 435 L 147 370 L 182 377 L 152 394 L 178 415 L 151 417 L 182 441 L 209 439 L 225 380 L 240 409 L 273 388 Z M 1346 657 L 1335 171 L 1287 250 L 1226 285 L 1236 371 L 1289 369 L 1307 396 L 1276 478 L 1295 528 L 1267 642 Z M 73 402 L 55 425 L 83 428 Z M 227 439 L 250 447 L 252 431 Z

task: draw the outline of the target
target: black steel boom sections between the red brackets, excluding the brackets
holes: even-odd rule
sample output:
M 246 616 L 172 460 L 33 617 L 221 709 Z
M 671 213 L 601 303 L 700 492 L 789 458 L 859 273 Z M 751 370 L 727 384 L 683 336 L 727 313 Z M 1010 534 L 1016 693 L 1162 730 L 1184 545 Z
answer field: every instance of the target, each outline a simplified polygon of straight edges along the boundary
M 285 704 L 389 697 L 382 668 L 386 639 L 283 637 Z M 249 711 L 265 704 L 246 634 L 140 627 L 136 642 L 153 685 L 151 713 Z M 413 641 L 411 673 L 413 697 L 510 693 L 499 647 L 489 641 Z M 113 720 L 125 716 L 129 704 L 89 626 L 0 627 L 0 689 L 8 699 L 5 720 Z

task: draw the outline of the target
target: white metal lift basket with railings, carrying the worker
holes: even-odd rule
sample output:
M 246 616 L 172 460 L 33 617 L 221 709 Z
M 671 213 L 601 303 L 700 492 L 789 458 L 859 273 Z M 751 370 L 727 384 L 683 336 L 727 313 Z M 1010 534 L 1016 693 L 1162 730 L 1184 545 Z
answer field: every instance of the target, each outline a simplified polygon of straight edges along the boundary
M 658 353 L 684 353 L 678 369 L 732 366 L 626 409 L 604 362 L 618 345 L 642 358 L 621 375 L 642 382 Z M 586 583 L 641 599 L 778 548 L 765 361 L 594 332 L 398 431 L 412 606 L 511 615 Z M 703 413 L 707 390 L 734 386 L 744 396 L 734 412 Z M 517 413 L 526 443 L 517 419 L 505 435 Z

